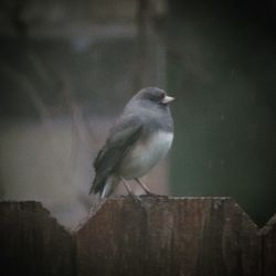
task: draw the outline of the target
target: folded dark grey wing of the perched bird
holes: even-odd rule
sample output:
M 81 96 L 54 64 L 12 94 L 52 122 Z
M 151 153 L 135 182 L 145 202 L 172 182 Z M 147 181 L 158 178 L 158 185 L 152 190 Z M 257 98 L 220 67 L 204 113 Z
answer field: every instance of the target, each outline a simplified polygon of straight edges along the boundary
M 116 171 L 120 161 L 141 135 L 142 124 L 136 118 L 127 118 L 116 125 L 106 145 L 98 152 L 95 161 L 95 179 L 89 193 L 100 192 L 107 178 Z

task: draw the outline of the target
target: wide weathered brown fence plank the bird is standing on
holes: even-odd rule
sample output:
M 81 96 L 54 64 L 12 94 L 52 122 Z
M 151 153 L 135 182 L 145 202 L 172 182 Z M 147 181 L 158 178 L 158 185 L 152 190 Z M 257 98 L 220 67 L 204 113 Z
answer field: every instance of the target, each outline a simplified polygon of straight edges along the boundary
M 75 235 L 79 276 L 261 275 L 258 230 L 231 199 L 110 199 Z

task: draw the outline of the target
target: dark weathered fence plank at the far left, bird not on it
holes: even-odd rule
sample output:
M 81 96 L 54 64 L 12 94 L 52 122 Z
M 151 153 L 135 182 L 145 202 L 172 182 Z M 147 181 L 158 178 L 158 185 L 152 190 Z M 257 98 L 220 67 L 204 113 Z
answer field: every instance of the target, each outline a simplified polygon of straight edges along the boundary
M 74 243 L 38 202 L 0 203 L 1 275 L 74 275 Z

